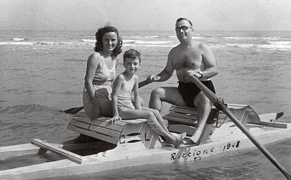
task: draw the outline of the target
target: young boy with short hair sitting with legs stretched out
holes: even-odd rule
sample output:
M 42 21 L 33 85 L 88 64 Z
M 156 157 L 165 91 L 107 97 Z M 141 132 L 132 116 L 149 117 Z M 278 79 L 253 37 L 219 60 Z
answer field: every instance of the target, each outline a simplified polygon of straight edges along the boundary
M 144 118 L 154 122 L 155 126 L 162 132 L 162 135 L 168 143 L 175 146 L 184 144 L 182 139 L 186 133 L 180 135 L 168 131 L 165 122 L 162 119 L 160 112 L 156 109 L 143 107 L 139 98 L 138 91 L 138 76 L 135 75 L 140 68 L 141 54 L 130 49 L 123 55 L 123 66 L 125 71 L 118 75 L 113 83 L 112 107 L 113 118 L 115 120 L 129 120 Z M 135 107 L 131 103 L 130 92 L 134 91 Z

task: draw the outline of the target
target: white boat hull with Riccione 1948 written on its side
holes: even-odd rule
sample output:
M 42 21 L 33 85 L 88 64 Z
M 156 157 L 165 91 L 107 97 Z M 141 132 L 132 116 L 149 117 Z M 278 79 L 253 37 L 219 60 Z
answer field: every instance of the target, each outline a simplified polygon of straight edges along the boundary
M 261 144 L 268 144 L 290 137 L 291 124 L 288 124 L 286 129 L 253 127 L 250 128 L 250 132 Z M 230 144 L 229 146 L 227 146 L 228 143 Z M 16 145 L 13 146 L 13 148 L 21 148 L 21 146 L 22 148 L 27 148 L 26 153 L 29 152 L 29 149 L 34 153 L 39 150 L 38 147 L 31 144 Z M 62 147 L 62 145 L 59 146 Z M 233 126 L 233 123 L 225 123 L 215 130 L 215 133 L 210 137 L 207 144 L 180 148 L 157 145 L 157 147 L 153 149 L 146 149 L 140 142 L 119 144 L 113 150 L 83 156 L 85 160 L 81 164 L 65 159 L 2 170 L 0 171 L 0 180 L 32 180 L 88 174 L 103 170 L 128 167 L 130 165 L 183 163 L 251 147 L 255 147 L 255 145 L 236 126 Z M 8 157 L 9 152 L 7 152 L 7 150 L 11 148 L 12 146 L 10 148 L 1 147 L 1 157 L 3 157 L 2 154 L 6 154 L 5 156 Z M 10 151 L 10 154 L 11 153 L 15 155 L 17 152 L 12 150 Z

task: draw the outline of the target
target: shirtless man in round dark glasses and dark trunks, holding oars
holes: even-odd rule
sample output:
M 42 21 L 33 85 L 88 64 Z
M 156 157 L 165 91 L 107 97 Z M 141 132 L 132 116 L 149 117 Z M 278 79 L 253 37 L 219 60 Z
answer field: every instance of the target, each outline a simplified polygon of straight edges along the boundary
M 211 102 L 203 92 L 191 81 L 191 75 L 198 78 L 204 85 L 215 93 L 210 77 L 218 74 L 216 60 L 210 48 L 192 39 L 193 28 L 188 19 L 179 18 L 176 22 L 176 34 L 180 44 L 169 52 L 164 70 L 158 75 L 149 75 L 147 81 L 162 82 L 168 80 L 174 70 L 178 77 L 178 88 L 161 87 L 152 91 L 149 108 L 161 112 L 162 102 L 172 105 L 197 107 L 197 129 L 190 140 L 197 143 L 206 120 L 210 114 Z

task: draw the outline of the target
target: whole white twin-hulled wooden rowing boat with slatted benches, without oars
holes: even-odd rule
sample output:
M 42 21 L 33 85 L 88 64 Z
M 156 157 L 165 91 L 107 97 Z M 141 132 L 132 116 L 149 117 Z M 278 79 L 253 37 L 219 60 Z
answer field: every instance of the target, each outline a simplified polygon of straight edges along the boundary
M 261 144 L 273 143 L 290 137 L 291 123 L 274 122 L 283 113 L 258 115 L 249 105 L 227 105 L 238 120 Z M 193 135 L 197 120 L 194 108 L 172 106 L 163 117 L 169 130 Z M 217 154 L 242 150 L 255 145 L 228 117 L 215 107 L 211 109 L 207 124 L 195 146 L 168 146 L 160 132 L 144 119 L 119 120 L 108 123 L 109 118 L 90 121 L 84 112 L 72 117 L 67 129 L 99 140 L 76 143 L 51 144 L 33 139 L 31 144 L 0 147 L 0 159 L 20 155 L 55 152 L 65 159 L 0 171 L 0 180 L 31 180 L 38 178 L 80 175 L 133 165 L 183 163 Z M 187 140 L 187 138 L 186 138 Z M 80 155 L 89 149 L 91 155 Z M 49 150 L 49 151 L 48 151 Z M 93 154 L 92 154 L 93 153 Z

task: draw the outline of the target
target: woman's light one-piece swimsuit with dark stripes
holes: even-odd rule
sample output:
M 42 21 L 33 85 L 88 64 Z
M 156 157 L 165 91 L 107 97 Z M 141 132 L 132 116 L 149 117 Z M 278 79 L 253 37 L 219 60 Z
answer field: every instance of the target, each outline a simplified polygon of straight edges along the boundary
M 99 53 L 98 53 L 99 54 Z M 107 100 L 111 100 L 111 81 L 114 80 L 116 75 L 116 67 L 115 67 L 115 58 L 112 69 L 109 69 L 104 63 L 101 55 L 99 54 L 100 59 L 102 61 L 102 67 L 97 69 L 94 75 L 93 86 L 95 89 L 95 96 L 99 102 L 99 105 L 102 106 Z M 83 90 L 83 105 L 84 110 L 88 116 L 92 116 L 93 114 L 93 104 L 89 98 L 86 88 Z

